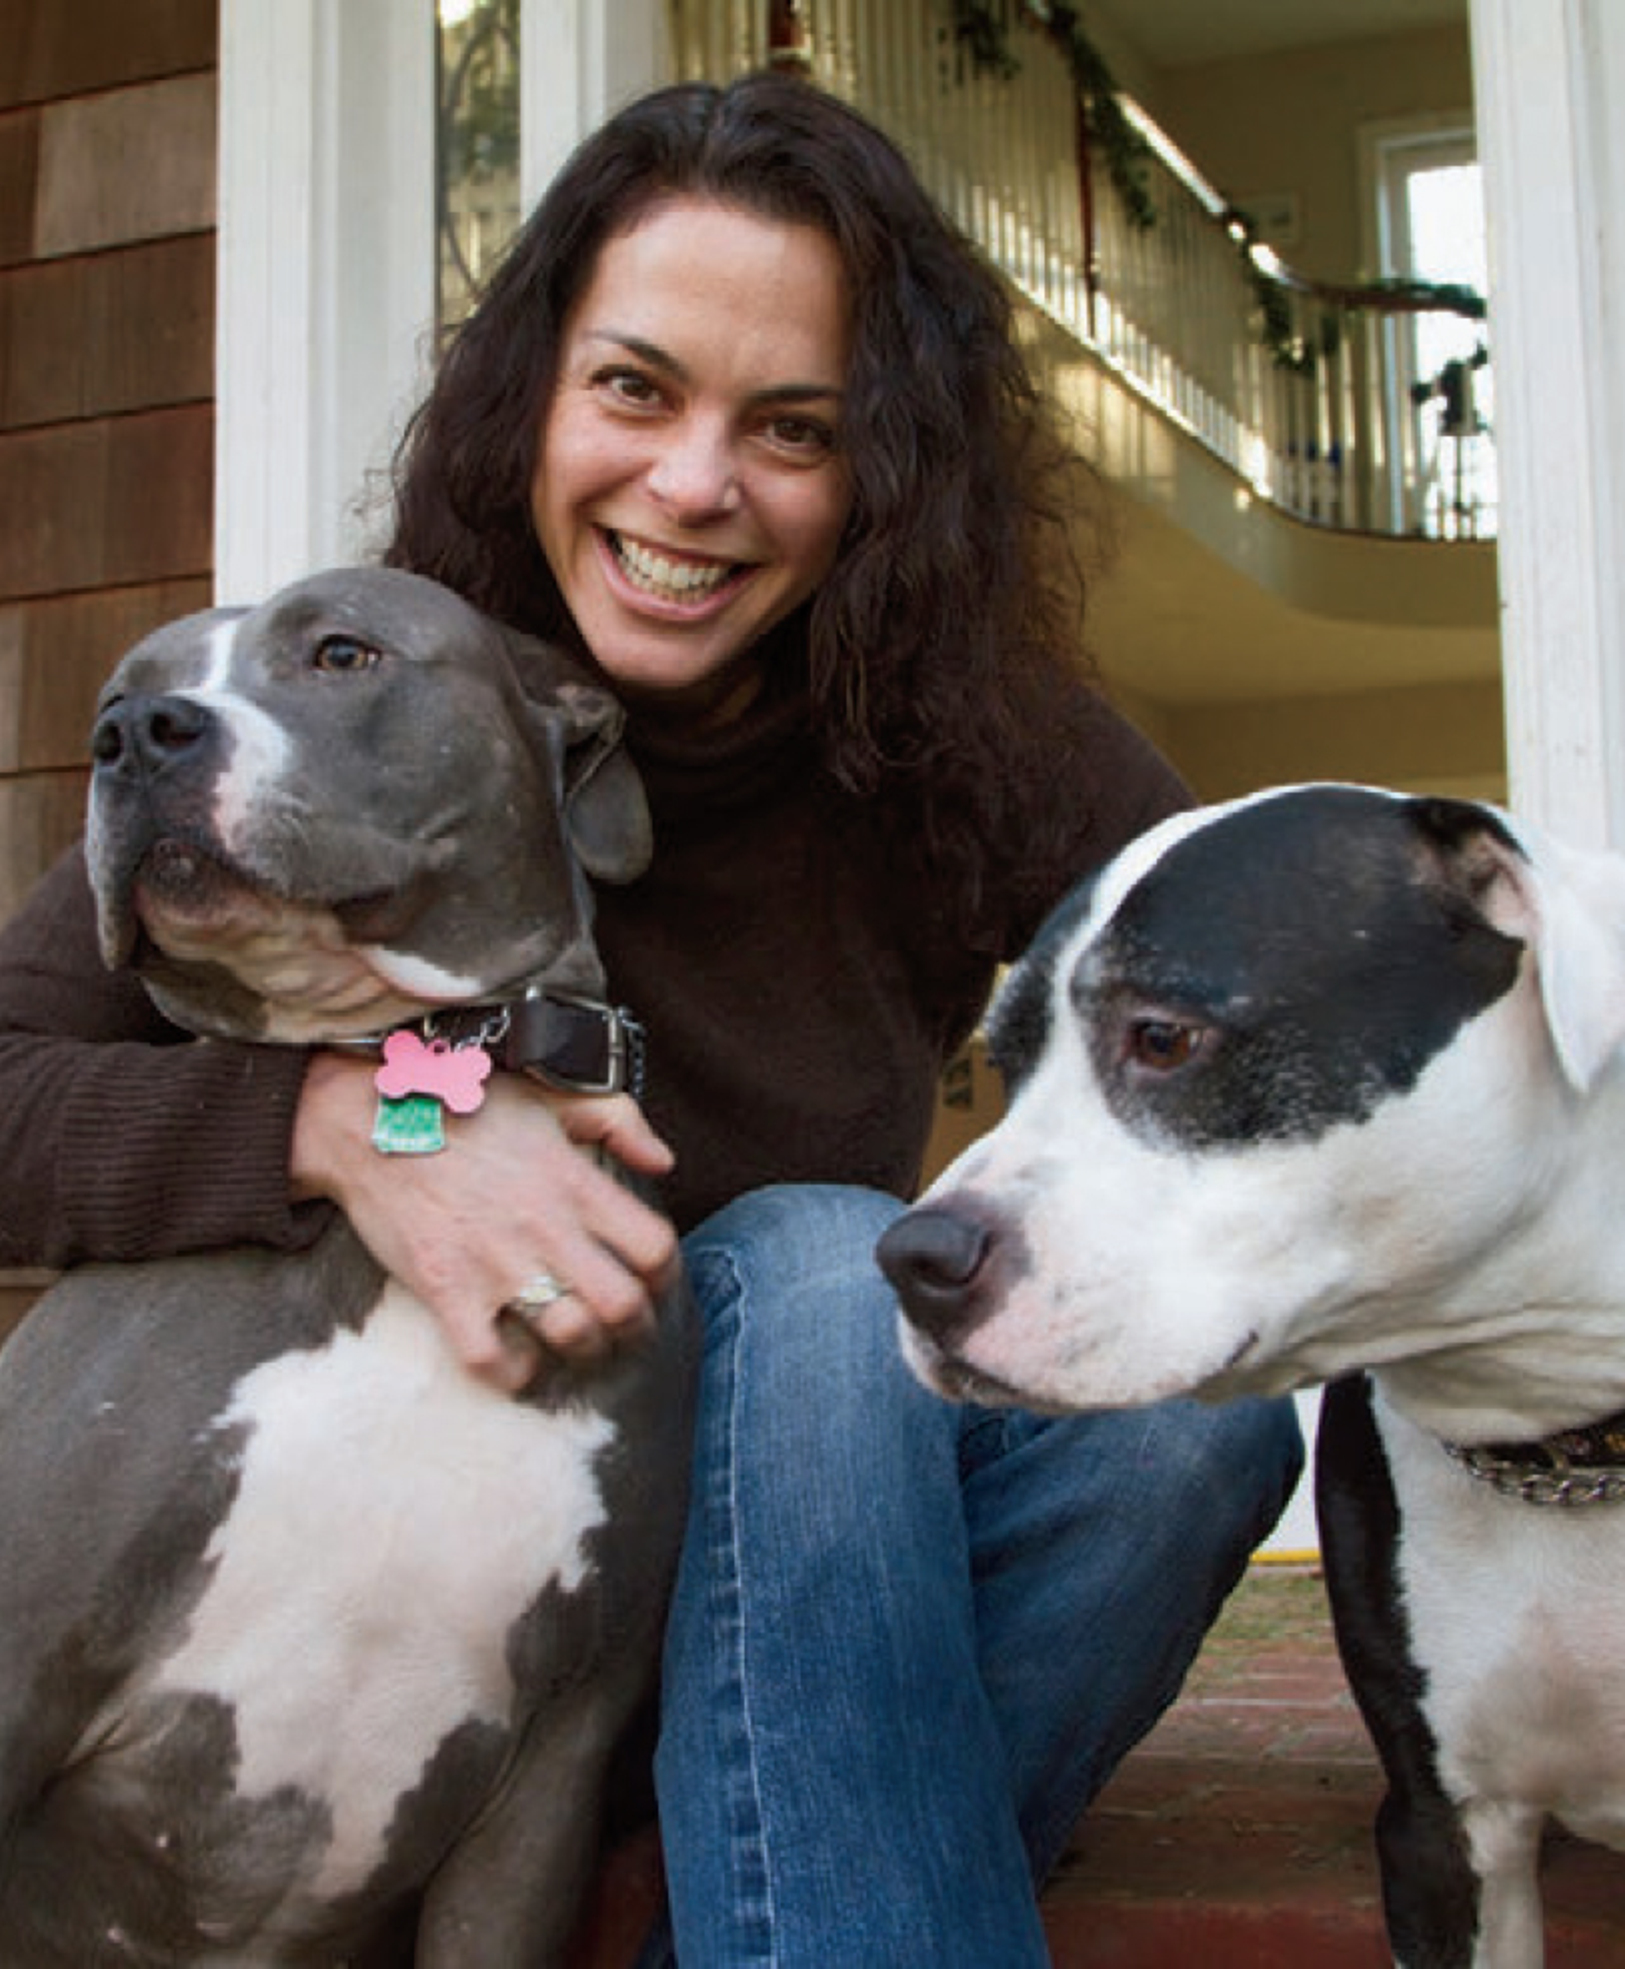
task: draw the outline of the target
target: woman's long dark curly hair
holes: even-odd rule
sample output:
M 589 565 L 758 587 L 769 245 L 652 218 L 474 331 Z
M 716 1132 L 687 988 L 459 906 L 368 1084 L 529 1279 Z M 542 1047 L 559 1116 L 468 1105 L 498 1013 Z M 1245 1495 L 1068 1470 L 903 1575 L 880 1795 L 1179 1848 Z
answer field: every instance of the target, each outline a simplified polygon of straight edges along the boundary
M 1054 894 L 1058 677 L 1081 662 L 1079 526 L 1101 490 L 1060 437 L 1010 299 L 863 116 L 786 75 L 660 89 L 565 163 L 457 331 L 396 461 L 392 565 L 544 636 L 571 624 L 530 520 L 565 317 L 599 248 L 674 195 L 813 224 L 841 252 L 853 510 L 810 614 L 831 772 L 959 872 Z M 697 276 L 703 278 L 703 276 Z M 1060 841 L 1052 853 L 1060 853 Z

